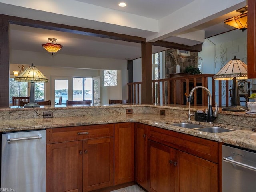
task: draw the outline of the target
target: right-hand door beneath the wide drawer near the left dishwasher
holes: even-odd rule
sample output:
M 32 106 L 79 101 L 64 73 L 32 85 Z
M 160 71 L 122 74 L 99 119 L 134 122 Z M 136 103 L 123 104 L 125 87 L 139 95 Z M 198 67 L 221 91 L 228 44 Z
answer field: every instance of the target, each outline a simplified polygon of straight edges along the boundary
M 84 140 L 84 192 L 114 184 L 114 139 Z

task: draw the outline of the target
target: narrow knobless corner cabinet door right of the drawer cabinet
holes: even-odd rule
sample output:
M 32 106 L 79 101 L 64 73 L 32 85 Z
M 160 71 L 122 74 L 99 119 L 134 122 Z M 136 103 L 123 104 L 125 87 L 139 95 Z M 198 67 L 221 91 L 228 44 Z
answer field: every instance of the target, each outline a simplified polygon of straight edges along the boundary
M 114 184 L 134 181 L 134 123 L 114 125 Z

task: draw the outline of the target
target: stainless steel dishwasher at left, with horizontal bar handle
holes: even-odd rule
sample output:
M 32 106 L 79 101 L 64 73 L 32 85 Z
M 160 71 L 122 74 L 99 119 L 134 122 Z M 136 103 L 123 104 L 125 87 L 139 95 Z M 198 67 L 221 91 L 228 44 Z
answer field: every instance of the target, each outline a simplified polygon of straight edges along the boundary
M 45 130 L 2 134 L 1 160 L 1 189 L 45 192 Z

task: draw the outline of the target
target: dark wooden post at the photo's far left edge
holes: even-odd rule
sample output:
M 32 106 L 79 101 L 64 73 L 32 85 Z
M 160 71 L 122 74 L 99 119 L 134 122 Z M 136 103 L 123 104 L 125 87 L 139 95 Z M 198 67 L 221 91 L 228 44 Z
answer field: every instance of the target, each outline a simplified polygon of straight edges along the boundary
M 0 18 L 0 108 L 9 108 L 9 21 Z

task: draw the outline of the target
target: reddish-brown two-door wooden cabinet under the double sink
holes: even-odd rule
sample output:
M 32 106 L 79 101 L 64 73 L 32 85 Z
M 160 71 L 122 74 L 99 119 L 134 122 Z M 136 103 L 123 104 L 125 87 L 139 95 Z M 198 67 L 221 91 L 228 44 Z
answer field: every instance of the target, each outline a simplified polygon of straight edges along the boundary
M 218 192 L 218 142 L 153 126 L 148 139 L 147 190 Z

